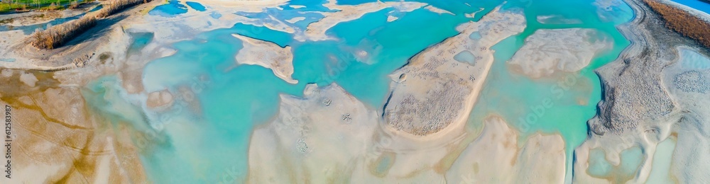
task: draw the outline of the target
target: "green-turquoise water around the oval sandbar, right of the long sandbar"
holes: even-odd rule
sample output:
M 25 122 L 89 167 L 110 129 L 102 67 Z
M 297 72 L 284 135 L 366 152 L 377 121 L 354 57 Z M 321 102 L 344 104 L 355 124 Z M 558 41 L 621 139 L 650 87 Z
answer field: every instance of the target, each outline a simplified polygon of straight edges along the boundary
M 492 47 L 496 51 L 495 62 L 471 113 L 469 125 L 476 127 L 489 115 L 501 115 L 520 131 L 523 140 L 537 132 L 561 134 L 567 150 L 565 180 L 570 183 L 574 148 L 586 139 L 586 121 L 594 117 L 596 104 L 601 100 L 601 84 L 594 69 L 612 62 L 629 45 L 615 26 L 630 21 L 633 10 L 627 4 L 621 4 L 621 7 L 607 12 L 594 6 L 591 0 L 508 1 L 504 9 L 524 9 L 528 26 L 520 35 Z M 550 14 L 574 18 L 581 23 L 549 25 L 535 21 L 537 16 Z M 530 79 L 510 71 L 506 61 L 523 47 L 525 38 L 535 30 L 559 28 L 594 28 L 613 39 L 613 48 L 592 59 L 586 68 L 572 74 Z

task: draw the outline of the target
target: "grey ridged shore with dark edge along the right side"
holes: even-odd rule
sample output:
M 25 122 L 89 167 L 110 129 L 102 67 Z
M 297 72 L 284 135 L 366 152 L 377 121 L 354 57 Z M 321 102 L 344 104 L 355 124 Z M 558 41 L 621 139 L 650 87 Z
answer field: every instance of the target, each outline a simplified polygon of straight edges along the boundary
M 710 175 L 704 172 L 710 169 L 710 110 L 699 104 L 710 100 L 704 90 L 709 84 L 703 82 L 710 71 L 679 67 L 687 54 L 682 49 L 679 52 L 678 47 L 692 48 L 704 57 L 710 55 L 710 50 L 665 28 L 660 16 L 643 1 L 627 2 L 635 11 L 635 19 L 619 26 L 619 30 L 632 45 L 615 62 L 597 70 L 603 98 L 598 115 L 588 122 L 588 139 L 574 151 L 574 181 L 644 183 L 657 144 L 677 137 L 671 178 L 679 183 L 706 183 L 710 181 Z M 634 147 L 641 149 L 640 155 L 621 154 Z M 591 174 L 599 172 L 599 163 L 588 162 L 594 159 L 594 149 L 601 149 L 605 153 L 603 161 L 615 169 L 628 160 L 638 159 L 640 163 L 606 176 Z

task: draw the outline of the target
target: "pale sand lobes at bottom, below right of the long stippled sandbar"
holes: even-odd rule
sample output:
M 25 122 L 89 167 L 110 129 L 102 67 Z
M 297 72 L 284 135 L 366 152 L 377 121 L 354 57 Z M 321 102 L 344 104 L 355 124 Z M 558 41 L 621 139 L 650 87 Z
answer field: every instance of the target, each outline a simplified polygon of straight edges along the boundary
M 448 183 L 564 183 L 564 140 L 535 134 L 518 148 L 518 134 L 500 117 L 484 120 L 446 173 Z

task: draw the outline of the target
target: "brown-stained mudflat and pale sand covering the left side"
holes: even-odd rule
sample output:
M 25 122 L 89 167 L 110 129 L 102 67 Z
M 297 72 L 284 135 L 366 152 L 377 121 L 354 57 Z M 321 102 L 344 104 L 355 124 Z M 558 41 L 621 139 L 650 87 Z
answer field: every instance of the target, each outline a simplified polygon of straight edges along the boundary
M 146 63 L 175 53 L 170 47 L 173 42 L 244 21 L 226 11 L 261 10 L 267 6 L 245 3 L 229 9 L 210 3 L 217 7 L 215 11 L 224 14 L 217 21 L 207 12 L 195 11 L 175 18 L 148 16 L 147 12 L 158 4 L 159 1 L 142 4 L 111 16 L 109 22 L 99 23 L 97 28 L 55 50 L 26 47 L 31 38 L 19 30 L 0 32 L 0 104 L 13 108 L 13 144 L 18 145 L 13 148 L 10 183 L 150 182 L 140 156 L 158 142 L 150 134 L 152 129 L 125 122 L 131 118 L 104 117 L 107 113 L 96 112 L 91 100 L 82 96 L 101 91 L 87 90 L 87 84 L 115 74 L 118 83 L 122 83 L 116 86 L 123 85 L 127 93 L 148 98 L 137 100 L 147 104 L 131 104 L 136 107 L 129 110 L 142 106 L 153 110 L 170 108 L 175 91 L 143 88 L 141 72 Z M 131 33 L 138 32 L 155 36 L 139 50 L 141 54 L 129 54 Z M 142 117 L 146 115 L 138 113 L 135 119 L 144 120 Z

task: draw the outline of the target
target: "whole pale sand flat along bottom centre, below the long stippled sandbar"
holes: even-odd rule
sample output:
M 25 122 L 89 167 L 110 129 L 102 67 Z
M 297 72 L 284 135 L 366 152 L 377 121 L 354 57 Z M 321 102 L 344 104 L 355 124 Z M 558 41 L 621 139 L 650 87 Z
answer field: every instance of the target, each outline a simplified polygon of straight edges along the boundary
M 536 134 L 519 148 L 515 130 L 498 117 L 488 118 L 481 136 L 460 154 L 454 149 L 459 133 L 432 140 L 392 133 L 375 110 L 337 84 L 309 84 L 302 98 L 282 95 L 273 122 L 254 130 L 248 183 L 564 180 L 562 137 Z M 453 165 L 445 166 L 449 161 Z

